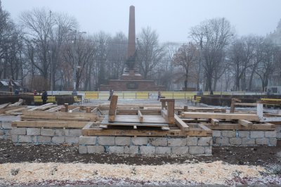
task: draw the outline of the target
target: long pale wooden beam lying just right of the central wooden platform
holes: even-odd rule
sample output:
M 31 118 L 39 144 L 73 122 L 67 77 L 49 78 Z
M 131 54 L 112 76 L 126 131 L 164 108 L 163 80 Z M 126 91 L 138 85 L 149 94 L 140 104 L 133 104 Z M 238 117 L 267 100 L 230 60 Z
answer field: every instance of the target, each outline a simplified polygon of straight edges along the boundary
M 218 112 L 182 112 L 182 117 L 204 118 L 204 119 L 225 119 L 225 120 L 249 120 L 259 122 L 258 115 L 254 114 L 237 114 L 237 113 L 218 113 Z

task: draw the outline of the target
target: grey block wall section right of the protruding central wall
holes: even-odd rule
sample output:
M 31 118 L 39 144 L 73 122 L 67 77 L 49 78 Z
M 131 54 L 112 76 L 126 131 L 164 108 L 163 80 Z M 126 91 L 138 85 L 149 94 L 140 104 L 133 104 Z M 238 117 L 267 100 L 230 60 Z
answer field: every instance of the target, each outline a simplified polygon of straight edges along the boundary
M 213 131 L 214 146 L 276 146 L 276 131 Z

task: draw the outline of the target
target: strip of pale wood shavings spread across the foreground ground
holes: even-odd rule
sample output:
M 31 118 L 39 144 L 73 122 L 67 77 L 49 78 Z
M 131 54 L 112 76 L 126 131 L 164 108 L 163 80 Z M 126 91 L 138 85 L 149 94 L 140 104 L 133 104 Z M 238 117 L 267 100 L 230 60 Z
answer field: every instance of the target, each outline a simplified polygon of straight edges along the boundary
M 260 166 L 229 165 L 221 161 L 154 166 L 24 162 L 1 164 L 0 185 L 235 185 L 243 183 L 242 179 L 259 181 L 265 172 Z

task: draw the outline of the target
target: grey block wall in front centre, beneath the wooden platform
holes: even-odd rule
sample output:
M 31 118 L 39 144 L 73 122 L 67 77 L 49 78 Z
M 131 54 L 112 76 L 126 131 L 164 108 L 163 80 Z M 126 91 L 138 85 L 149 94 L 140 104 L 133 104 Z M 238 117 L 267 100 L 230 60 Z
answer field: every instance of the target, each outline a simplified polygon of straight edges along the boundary
M 212 137 L 80 136 L 79 153 L 211 155 Z

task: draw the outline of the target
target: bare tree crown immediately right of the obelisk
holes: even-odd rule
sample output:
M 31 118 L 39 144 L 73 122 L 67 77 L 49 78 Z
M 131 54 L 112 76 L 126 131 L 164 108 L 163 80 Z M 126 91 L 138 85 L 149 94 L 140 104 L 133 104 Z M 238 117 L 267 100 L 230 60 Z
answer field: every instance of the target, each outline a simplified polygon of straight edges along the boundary
M 159 46 L 156 31 L 150 27 L 143 28 L 137 39 L 137 63 L 144 79 L 151 77 L 164 56 L 164 46 Z

